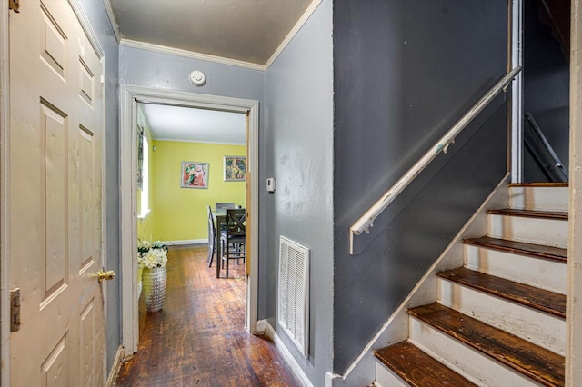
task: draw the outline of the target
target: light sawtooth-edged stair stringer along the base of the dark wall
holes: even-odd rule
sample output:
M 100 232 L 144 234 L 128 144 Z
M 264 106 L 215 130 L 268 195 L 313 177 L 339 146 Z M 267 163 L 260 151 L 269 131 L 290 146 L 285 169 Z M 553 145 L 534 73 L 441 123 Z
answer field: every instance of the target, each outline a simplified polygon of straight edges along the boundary
M 477 211 L 463 225 L 455 238 L 447 245 L 416 286 L 396 308 L 386 323 L 382 325 L 376 335 L 370 340 L 354 362 L 350 364 L 343 375 L 326 373 L 326 387 L 348 387 L 355 385 L 369 385 L 374 382 L 376 373 L 376 358 L 374 349 L 386 347 L 408 338 L 409 308 L 437 301 L 438 282 L 437 273 L 460 267 L 464 263 L 464 243 L 467 238 L 477 238 L 487 231 L 487 209 L 506 208 L 509 203 L 508 194 L 509 174 L 497 184 L 489 193 L 487 199 L 481 203 Z

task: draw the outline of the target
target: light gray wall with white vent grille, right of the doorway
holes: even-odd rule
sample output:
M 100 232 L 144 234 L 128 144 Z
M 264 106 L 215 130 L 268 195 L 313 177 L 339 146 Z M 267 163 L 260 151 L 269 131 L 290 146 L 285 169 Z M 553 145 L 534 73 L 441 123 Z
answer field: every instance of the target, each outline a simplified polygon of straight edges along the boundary
M 266 316 L 314 385 L 332 365 L 333 58 L 332 2 L 324 0 L 266 71 L 264 166 L 276 192 L 261 203 L 259 238 Z M 309 356 L 277 326 L 279 236 L 311 249 Z

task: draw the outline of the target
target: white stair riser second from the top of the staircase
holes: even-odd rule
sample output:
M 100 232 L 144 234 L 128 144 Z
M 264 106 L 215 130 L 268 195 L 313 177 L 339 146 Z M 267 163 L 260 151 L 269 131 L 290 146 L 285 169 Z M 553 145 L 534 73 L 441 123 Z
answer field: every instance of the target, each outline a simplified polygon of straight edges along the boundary
M 489 214 L 487 235 L 510 241 L 567 248 L 567 221 Z

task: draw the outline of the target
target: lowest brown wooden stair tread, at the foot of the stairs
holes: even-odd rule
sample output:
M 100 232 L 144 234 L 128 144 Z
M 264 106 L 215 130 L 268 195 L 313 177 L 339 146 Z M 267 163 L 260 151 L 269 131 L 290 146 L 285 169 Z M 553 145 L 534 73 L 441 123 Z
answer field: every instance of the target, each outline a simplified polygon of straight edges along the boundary
M 476 386 L 410 342 L 380 348 L 374 355 L 413 387 Z

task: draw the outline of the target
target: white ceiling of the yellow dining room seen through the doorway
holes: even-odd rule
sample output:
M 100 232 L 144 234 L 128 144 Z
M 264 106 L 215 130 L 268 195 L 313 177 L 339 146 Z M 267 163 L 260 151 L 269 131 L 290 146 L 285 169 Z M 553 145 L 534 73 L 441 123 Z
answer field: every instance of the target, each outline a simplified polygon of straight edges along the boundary
M 156 140 L 246 144 L 246 118 L 243 113 L 164 104 L 142 106 Z

